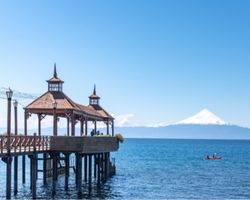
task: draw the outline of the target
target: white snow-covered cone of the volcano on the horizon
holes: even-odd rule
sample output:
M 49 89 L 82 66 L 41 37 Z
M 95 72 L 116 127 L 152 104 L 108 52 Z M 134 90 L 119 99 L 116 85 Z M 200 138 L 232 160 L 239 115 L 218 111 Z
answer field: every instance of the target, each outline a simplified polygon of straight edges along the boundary
M 216 116 L 208 109 L 203 109 L 196 115 L 184 119 L 176 124 L 200 124 L 200 125 L 228 125 L 224 120 Z

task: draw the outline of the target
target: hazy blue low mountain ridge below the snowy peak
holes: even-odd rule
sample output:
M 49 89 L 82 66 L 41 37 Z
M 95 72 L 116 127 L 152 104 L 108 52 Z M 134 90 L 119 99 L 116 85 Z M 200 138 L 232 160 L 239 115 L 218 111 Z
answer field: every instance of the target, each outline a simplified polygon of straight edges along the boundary
M 125 138 L 250 139 L 250 129 L 231 125 L 171 125 L 166 127 L 120 127 Z

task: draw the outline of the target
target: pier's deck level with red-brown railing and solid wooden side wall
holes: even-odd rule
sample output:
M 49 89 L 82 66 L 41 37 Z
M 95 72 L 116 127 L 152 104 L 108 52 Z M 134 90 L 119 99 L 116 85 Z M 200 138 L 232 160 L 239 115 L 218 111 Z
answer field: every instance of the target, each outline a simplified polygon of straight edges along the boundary
M 115 137 L 106 136 L 0 136 L 0 157 L 30 155 L 36 153 L 104 153 L 119 148 Z

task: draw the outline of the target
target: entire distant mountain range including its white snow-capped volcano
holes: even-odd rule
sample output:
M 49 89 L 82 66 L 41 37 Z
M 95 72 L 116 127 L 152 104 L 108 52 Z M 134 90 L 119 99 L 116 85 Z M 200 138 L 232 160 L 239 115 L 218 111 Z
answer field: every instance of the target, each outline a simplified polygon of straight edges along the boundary
M 173 125 L 162 123 L 151 127 L 121 127 L 116 130 L 127 138 L 250 139 L 249 128 L 230 125 L 208 109 Z

